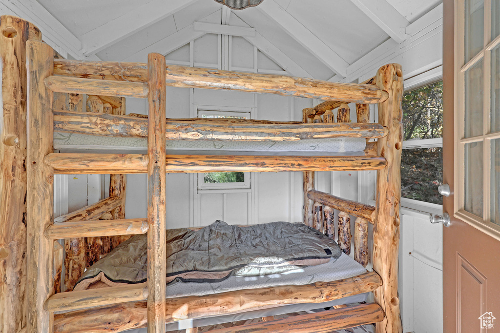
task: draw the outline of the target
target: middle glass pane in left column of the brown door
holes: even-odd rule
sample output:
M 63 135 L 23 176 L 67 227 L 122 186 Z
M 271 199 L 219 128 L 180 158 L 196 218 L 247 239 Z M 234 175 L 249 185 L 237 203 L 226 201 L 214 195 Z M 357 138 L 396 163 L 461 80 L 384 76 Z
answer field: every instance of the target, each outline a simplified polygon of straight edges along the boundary
M 465 137 L 483 134 L 482 59 L 465 71 Z

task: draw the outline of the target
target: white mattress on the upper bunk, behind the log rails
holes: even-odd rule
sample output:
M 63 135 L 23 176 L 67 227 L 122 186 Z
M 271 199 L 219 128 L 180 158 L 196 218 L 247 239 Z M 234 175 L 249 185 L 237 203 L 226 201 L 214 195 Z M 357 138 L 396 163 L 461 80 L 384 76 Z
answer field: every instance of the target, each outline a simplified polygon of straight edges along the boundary
M 110 137 L 78 133 L 54 132 L 54 149 L 59 150 L 131 150 L 145 151 L 147 138 Z M 190 141 L 167 140 L 170 154 L 178 151 L 239 152 L 329 152 L 337 155 L 362 155 L 364 138 L 329 138 L 294 141 Z

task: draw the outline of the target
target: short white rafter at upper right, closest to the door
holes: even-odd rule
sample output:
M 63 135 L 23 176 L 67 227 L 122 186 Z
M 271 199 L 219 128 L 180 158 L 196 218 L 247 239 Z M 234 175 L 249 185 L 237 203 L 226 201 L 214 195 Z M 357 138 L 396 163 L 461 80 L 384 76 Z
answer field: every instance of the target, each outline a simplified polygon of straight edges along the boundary
M 398 43 L 406 39 L 406 27 L 409 21 L 387 0 L 350 0 L 386 34 Z

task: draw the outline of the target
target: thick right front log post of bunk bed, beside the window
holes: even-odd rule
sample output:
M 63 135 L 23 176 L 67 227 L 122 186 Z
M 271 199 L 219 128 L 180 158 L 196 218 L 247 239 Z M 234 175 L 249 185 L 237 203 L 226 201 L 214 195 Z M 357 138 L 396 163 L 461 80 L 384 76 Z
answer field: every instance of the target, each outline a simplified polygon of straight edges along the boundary
M 388 92 L 378 103 L 378 122 L 389 128 L 389 134 L 378 139 L 377 155 L 385 157 L 387 166 L 378 170 L 376 215 L 373 227 L 373 271 L 382 278 L 382 288 L 374 292 L 375 302 L 385 313 L 376 324 L 377 333 L 400 333 L 399 298 L 397 296 L 397 255 L 399 250 L 399 203 L 401 199 L 401 140 L 403 94 L 402 69 L 399 64 L 380 67 L 376 85 Z

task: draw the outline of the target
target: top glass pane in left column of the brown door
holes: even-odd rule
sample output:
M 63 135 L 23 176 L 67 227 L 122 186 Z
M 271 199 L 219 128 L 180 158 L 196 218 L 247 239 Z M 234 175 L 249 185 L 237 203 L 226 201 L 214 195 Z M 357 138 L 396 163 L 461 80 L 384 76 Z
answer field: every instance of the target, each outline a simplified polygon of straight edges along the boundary
M 484 45 L 484 0 L 465 0 L 465 63 Z

